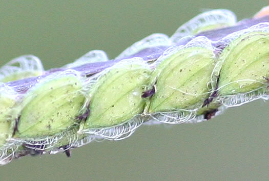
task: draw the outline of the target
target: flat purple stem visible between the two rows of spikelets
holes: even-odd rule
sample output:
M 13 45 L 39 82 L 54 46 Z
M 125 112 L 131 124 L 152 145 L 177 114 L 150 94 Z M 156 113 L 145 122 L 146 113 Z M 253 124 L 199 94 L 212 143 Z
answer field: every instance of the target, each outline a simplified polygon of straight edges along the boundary
M 244 19 L 242 21 L 239 21 L 236 25 L 232 27 L 227 27 L 227 28 L 222 28 L 222 29 L 216 29 L 216 30 L 211 30 L 211 31 L 206 31 L 202 32 L 196 35 L 197 36 L 205 36 L 212 40 L 212 44 L 215 47 L 218 47 L 219 49 L 223 49 L 226 45 L 224 45 L 221 40 L 223 37 L 243 30 L 250 28 L 252 25 L 258 24 L 260 22 L 269 22 L 269 15 L 263 16 L 260 18 L 252 18 L 252 19 Z M 192 38 L 189 39 L 184 39 L 182 42 L 178 43 L 177 45 L 184 45 L 188 43 Z M 95 62 L 95 63 L 88 63 L 84 64 L 78 67 L 71 68 L 73 70 L 79 71 L 82 76 L 91 76 L 95 73 L 101 72 L 102 70 L 105 70 L 106 68 L 109 68 L 119 62 L 122 59 L 130 59 L 134 57 L 140 57 L 144 61 L 154 61 L 158 57 L 160 57 L 165 49 L 169 48 L 169 46 L 156 46 L 156 47 L 151 47 L 151 48 L 145 48 L 140 50 L 138 53 L 121 58 L 121 59 L 115 59 L 115 60 L 110 60 L 106 62 Z M 70 69 L 70 68 L 69 68 Z M 36 83 L 40 81 L 40 79 L 43 79 L 44 77 L 48 76 L 49 74 L 53 72 L 58 72 L 58 71 L 64 71 L 66 69 L 64 68 L 54 68 L 46 71 L 43 75 L 37 76 L 37 77 L 30 77 L 27 79 L 23 80 L 18 80 L 18 81 L 13 81 L 13 82 L 8 82 L 6 85 L 12 87 L 16 92 L 18 93 L 25 93 L 30 87 L 34 86 Z

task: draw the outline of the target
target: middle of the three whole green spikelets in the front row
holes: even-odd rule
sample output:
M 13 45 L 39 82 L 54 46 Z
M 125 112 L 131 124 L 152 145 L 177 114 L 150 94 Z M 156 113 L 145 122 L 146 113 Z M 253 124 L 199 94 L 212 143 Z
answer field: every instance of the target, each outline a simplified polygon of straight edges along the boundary
M 90 116 L 85 128 L 110 127 L 141 114 L 141 97 L 148 84 L 150 69 L 146 64 L 123 62 L 102 74 L 91 92 Z

